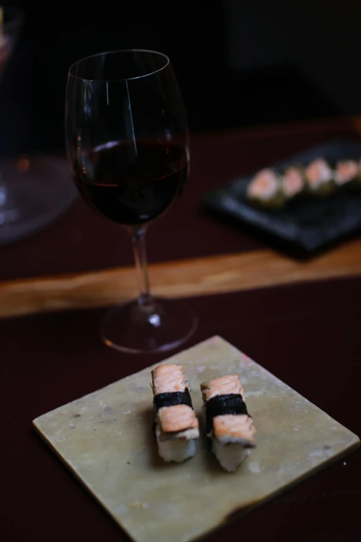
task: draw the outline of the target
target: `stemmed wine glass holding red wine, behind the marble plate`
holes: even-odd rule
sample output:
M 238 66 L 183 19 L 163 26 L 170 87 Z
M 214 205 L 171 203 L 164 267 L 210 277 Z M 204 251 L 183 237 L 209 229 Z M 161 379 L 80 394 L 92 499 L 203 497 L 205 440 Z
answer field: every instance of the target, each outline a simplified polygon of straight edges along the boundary
M 106 314 L 102 338 L 123 352 L 174 348 L 192 335 L 196 318 L 183 302 L 151 297 L 145 253 L 147 226 L 178 199 L 189 170 L 187 118 L 169 58 L 133 49 L 75 62 L 65 116 L 82 198 L 133 241 L 139 298 Z

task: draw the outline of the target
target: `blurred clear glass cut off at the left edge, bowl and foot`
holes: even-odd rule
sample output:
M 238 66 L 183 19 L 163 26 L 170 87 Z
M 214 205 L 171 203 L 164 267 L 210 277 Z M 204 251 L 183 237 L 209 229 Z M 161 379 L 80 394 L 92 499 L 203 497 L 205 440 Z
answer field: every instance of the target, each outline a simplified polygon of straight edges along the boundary
M 0 7 L 0 81 L 23 22 L 20 9 Z M 15 162 L 1 163 L 0 245 L 46 226 L 68 208 L 75 195 L 68 170 L 58 158 L 19 156 Z

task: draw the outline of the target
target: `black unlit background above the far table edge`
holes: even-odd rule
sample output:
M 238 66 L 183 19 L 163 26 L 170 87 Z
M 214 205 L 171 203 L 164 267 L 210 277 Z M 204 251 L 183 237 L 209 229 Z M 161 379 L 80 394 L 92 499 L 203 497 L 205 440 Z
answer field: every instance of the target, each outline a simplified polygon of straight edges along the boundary
M 26 12 L 0 100 L 1 152 L 64 148 L 68 66 L 169 55 L 192 132 L 360 112 L 360 1 L 4 2 Z

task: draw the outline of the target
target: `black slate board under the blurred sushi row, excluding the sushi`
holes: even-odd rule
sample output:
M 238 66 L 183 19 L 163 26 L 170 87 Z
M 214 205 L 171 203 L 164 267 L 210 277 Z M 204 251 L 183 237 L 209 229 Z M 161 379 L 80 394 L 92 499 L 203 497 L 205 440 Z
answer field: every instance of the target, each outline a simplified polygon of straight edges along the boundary
M 356 141 L 331 141 L 317 145 L 290 159 L 272 165 L 279 171 L 287 165 L 308 165 L 322 156 L 332 165 L 337 160 L 361 159 L 361 144 Z M 228 185 L 203 195 L 210 210 L 246 222 L 306 251 L 317 251 L 361 228 L 360 188 L 341 188 L 327 197 L 305 197 L 279 210 L 253 207 L 246 198 L 248 183 L 257 172 L 233 179 Z

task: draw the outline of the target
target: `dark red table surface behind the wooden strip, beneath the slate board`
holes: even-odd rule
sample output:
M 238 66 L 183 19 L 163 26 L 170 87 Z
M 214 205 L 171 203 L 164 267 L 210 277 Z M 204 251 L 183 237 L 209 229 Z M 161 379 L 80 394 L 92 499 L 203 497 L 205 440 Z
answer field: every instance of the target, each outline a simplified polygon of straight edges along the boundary
M 261 235 L 232 228 L 203 210 L 201 195 L 233 177 L 257 170 L 332 138 L 360 138 L 347 120 L 299 129 L 210 134 L 192 139 L 191 174 L 184 195 L 148 232 L 150 262 L 261 249 Z M 0 279 L 104 269 L 131 264 L 129 235 L 78 199 L 66 215 L 36 235 L 0 247 Z

